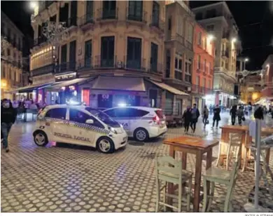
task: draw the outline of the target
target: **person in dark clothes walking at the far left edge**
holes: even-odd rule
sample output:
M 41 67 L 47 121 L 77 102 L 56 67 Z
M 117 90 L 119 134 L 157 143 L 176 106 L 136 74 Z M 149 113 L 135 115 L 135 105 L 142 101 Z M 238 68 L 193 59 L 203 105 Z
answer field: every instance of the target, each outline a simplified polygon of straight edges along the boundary
M 3 99 L 3 105 L 1 106 L 1 133 L 3 135 L 3 149 L 8 149 L 8 134 L 10 133 L 10 128 L 15 123 L 17 115 L 17 110 L 13 108 L 13 104 L 7 100 Z

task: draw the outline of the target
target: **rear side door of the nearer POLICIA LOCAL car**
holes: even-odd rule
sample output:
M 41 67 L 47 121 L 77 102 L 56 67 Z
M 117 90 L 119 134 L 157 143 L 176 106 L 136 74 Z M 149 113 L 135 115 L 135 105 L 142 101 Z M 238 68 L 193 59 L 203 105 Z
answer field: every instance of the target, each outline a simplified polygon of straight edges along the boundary
M 68 123 L 65 107 L 49 109 L 45 114 L 45 133 L 49 140 L 55 142 L 69 142 Z

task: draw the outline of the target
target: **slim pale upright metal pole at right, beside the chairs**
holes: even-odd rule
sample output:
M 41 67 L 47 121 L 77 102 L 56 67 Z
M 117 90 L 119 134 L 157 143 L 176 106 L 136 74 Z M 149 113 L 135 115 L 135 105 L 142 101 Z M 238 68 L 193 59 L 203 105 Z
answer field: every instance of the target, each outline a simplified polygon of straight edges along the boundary
M 256 145 L 256 161 L 255 161 L 255 196 L 254 196 L 254 208 L 258 208 L 259 197 L 259 182 L 260 182 L 260 131 L 261 131 L 261 119 L 255 119 L 255 145 Z

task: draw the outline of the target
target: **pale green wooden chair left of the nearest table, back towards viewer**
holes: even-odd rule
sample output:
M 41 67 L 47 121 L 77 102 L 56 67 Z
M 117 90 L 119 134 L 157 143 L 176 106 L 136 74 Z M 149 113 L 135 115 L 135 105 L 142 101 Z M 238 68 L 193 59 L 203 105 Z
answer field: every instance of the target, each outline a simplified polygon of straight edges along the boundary
M 158 212 L 160 205 L 163 205 L 166 211 L 166 207 L 173 208 L 181 212 L 182 203 L 182 186 L 188 181 L 188 191 L 187 196 L 187 211 L 190 211 L 190 193 L 192 190 L 193 173 L 187 170 L 182 170 L 182 161 L 176 161 L 171 156 L 162 156 L 156 158 L 155 161 L 156 170 L 156 207 L 155 212 Z M 161 184 L 163 183 L 163 187 Z M 167 183 L 173 183 L 179 185 L 179 194 L 175 196 L 174 194 L 167 194 Z M 160 201 L 160 192 L 164 190 L 164 202 Z M 178 207 L 174 205 L 169 205 L 166 198 L 176 198 L 178 199 Z

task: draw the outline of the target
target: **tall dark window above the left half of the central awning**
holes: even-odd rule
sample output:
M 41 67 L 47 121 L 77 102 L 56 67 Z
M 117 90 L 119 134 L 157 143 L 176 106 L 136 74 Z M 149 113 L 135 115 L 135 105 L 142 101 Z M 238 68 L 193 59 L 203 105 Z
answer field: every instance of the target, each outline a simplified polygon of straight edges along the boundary
M 113 67 L 115 36 L 102 36 L 101 67 Z

